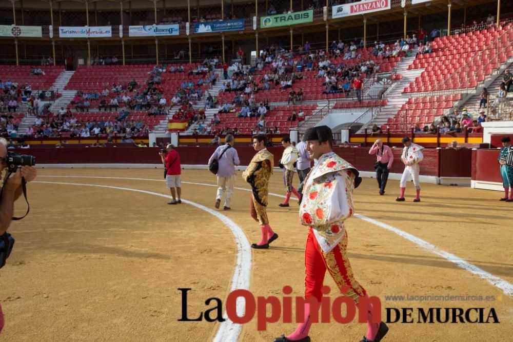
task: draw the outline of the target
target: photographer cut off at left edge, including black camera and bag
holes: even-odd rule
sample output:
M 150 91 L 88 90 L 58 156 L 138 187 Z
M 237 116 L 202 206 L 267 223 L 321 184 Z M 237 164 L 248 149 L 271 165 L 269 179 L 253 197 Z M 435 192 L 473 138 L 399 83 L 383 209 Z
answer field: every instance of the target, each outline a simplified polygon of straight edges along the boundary
M 7 153 L 7 140 L 4 138 L 0 138 L 0 160 L 2 163 L 0 164 L 0 172 L 7 168 L 6 175 L 4 177 L 4 184 L 2 186 L 2 190 L 0 192 L 0 255 L 2 256 L 2 267 L 5 263 L 5 259 L 10 252 L 10 248 L 12 248 L 12 244 L 14 243 L 14 239 L 7 234 L 7 229 L 11 224 L 12 215 L 14 211 L 14 201 L 19 198 L 19 196 L 23 193 L 22 179 L 25 180 L 26 183 L 34 180 L 37 171 L 34 167 L 29 165 L 23 165 L 27 158 L 30 159 L 30 164 L 35 164 L 35 159 L 30 156 L 21 156 L 17 153 L 9 152 Z M 18 158 L 14 160 L 14 158 Z M 19 158 L 21 157 L 21 158 Z M 13 165 L 23 165 L 19 167 L 13 167 Z M 11 173 L 12 172 L 12 173 Z M 9 248 L 10 247 L 10 248 Z M 0 306 L 0 332 L 4 328 L 4 314 L 2 312 L 2 307 Z

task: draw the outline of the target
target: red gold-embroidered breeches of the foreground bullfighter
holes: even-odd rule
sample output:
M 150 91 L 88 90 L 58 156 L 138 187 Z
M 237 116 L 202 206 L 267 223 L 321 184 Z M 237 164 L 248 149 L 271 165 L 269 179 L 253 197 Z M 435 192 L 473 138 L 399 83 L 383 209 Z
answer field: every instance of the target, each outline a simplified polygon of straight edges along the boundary
M 346 251 L 347 232 L 344 233 L 344 237 L 337 246 L 324 254 L 312 228 L 309 228 L 305 250 L 305 298 L 315 297 L 321 301 L 323 295 L 321 288 L 326 270 L 341 289 L 341 293 L 351 297 L 356 304 L 358 304 L 360 296 L 365 296 L 365 289 L 354 279 Z M 345 286 L 348 286 L 349 290 L 342 292 L 342 288 Z

